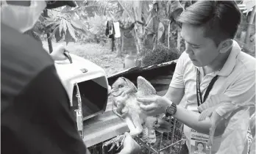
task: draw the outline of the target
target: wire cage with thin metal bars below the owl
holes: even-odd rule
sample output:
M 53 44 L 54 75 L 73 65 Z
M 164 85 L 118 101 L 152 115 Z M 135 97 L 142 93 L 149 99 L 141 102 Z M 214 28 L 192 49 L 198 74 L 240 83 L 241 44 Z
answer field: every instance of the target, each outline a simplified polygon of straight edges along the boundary
M 143 142 L 139 137 L 135 138 L 135 141 L 138 142 L 141 146 L 141 154 L 178 154 L 182 144 L 185 143 L 185 136 L 183 133 L 183 124 L 176 120 L 174 117 L 169 117 L 167 119 L 171 123 L 171 131 L 163 132 L 156 131 L 157 141 L 154 144 L 149 144 Z M 104 141 L 107 142 L 110 139 Z M 103 146 L 104 142 L 93 145 L 89 147 L 91 154 L 116 154 L 120 152 L 122 147 L 118 150 L 115 146 L 113 150 L 110 150 L 111 145 Z M 110 150 L 110 151 L 108 151 Z

